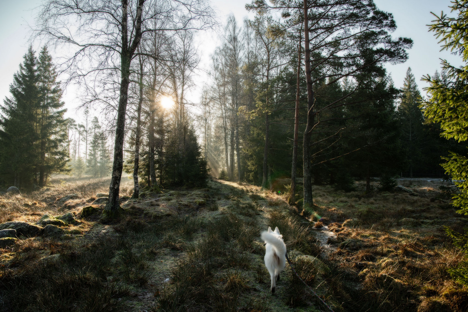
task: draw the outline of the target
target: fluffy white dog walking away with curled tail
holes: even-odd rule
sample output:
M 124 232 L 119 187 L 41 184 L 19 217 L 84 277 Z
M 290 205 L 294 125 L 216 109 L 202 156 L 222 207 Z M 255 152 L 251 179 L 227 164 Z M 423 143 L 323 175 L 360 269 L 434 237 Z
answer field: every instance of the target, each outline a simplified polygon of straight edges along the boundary
M 283 235 L 279 233 L 278 226 L 275 231 L 263 231 L 261 235 L 265 241 L 265 266 L 270 272 L 271 277 L 271 292 L 275 292 L 275 282 L 279 281 L 279 272 L 285 269 L 286 265 L 286 245 L 283 241 Z

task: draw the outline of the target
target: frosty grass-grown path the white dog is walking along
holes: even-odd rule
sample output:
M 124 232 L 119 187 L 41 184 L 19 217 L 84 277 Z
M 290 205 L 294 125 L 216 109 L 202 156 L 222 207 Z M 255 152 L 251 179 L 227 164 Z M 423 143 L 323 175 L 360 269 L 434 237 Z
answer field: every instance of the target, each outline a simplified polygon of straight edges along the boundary
M 215 180 L 200 191 L 209 198 L 198 210 L 181 208 L 191 200 L 183 191 L 174 193 L 176 200 L 161 201 L 159 209 L 174 207 L 183 221 L 159 238 L 156 255 L 147 261 L 147 287 L 127 301 L 133 311 L 321 311 L 289 265 L 271 294 L 260 239 L 268 226 L 278 226 L 290 258 L 299 261 L 296 269 L 312 286 L 323 265 L 315 257 L 319 248 L 310 247 L 316 241 L 313 223 L 295 215 L 281 196 L 254 185 Z

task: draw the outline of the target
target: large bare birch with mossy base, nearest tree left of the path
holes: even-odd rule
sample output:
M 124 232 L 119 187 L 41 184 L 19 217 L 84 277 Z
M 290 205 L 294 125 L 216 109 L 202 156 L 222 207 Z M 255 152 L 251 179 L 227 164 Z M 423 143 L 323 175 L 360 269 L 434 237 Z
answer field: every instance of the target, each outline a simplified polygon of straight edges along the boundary
M 155 29 L 147 23 L 154 19 L 167 19 L 170 27 Z M 118 196 L 128 87 L 140 41 L 154 32 L 205 29 L 212 23 L 212 10 L 205 0 L 48 0 L 42 5 L 37 34 L 72 50 L 63 64 L 70 79 L 87 83 L 93 77 L 102 82 L 101 87 L 104 81 L 113 81 L 118 89 L 112 177 L 104 214 L 112 217 L 121 212 Z

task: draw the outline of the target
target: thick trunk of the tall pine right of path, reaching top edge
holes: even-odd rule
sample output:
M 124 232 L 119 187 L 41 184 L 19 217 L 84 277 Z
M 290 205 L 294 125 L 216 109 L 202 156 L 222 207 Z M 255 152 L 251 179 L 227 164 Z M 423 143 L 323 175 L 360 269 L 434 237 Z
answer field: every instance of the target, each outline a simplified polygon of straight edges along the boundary
M 312 197 L 312 158 L 310 152 L 310 141 L 312 137 L 312 128 L 314 126 L 314 90 L 312 89 L 312 78 L 310 73 L 310 47 L 309 47 L 309 21 L 307 13 L 307 0 L 304 1 L 304 63 L 307 82 L 307 126 L 304 131 L 302 141 L 302 156 L 304 167 L 304 208 L 312 207 L 314 204 Z

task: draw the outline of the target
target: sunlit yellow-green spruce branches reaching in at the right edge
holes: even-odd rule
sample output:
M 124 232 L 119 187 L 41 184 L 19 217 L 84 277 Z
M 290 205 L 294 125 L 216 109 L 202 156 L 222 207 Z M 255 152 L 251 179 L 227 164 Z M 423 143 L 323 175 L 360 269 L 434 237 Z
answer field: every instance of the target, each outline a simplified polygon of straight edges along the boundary
M 465 65 L 456 68 L 443 61 L 442 66 L 447 73 L 447 81 L 426 76 L 430 83 L 427 88 L 430 95 L 427 101 L 421 105 L 424 116 L 433 123 L 440 123 L 443 132 L 441 136 L 458 142 L 468 140 L 468 0 L 455 0 L 452 2 L 452 12 L 457 17 L 447 17 L 441 14 L 436 16 L 435 23 L 430 25 L 437 37 L 441 37 L 440 43 L 447 50 L 458 52 Z M 446 170 L 460 190 L 453 196 L 453 205 L 460 208 L 457 212 L 468 215 L 468 153 L 450 152 L 449 157 L 442 167 Z M 468 256 L 468 228 L 464 233 L 454 232 L 446 228 L 454 244 Z M 458 268 L 449 270 L 452 276 L 460 283 L 468 285 L 468 260 L 461 261 Z

